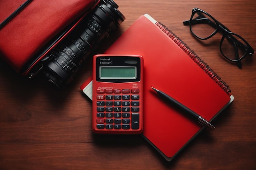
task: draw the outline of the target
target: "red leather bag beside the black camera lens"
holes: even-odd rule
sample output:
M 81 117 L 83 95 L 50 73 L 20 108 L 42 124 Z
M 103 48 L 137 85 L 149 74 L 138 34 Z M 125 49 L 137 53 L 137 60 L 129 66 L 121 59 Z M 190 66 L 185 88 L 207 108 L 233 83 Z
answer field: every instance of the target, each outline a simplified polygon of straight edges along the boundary
M 47 51 L 97 3 L 99 0 L 1 0 L 0 57 L 18 73 L 30 76 Z M 38 55 L 40 51 L 43 52 Z

